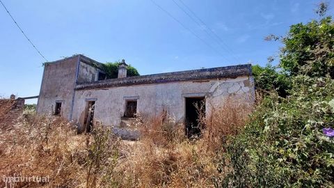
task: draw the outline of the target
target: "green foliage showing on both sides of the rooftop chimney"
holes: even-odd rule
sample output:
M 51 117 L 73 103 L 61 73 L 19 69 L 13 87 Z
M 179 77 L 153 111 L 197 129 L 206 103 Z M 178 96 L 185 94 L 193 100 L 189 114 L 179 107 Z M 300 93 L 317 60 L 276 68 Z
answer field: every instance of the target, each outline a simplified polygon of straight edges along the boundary
M 120 62 L 116 61 L 115 63 L 104 63 L 103 69 L 106 72 L 106 79 L 114 79 L 118 77 L 118 65 Z M 132 65 L 127 65 L 127 77 L 139 76 L 136 68 Z

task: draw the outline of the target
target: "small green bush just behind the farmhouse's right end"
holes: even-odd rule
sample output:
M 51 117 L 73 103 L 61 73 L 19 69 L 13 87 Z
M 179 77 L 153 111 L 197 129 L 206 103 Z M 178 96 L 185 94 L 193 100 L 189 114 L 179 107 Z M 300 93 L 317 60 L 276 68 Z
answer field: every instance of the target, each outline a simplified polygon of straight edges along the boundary
M 286 97 L 290 89 L 288 76 L 268 64 L 266 67 L 260 65 L 252 66 L 255 88 L 259 92 L 276 91 L 281 97 Z

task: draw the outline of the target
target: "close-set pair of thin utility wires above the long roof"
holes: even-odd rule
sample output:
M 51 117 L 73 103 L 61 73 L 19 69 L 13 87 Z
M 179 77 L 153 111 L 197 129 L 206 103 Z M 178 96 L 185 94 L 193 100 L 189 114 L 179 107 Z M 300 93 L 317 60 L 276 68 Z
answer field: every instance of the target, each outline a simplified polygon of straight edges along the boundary
M 173 0 L 174 1 L 174 0 Z M 207 24 L 205 24 L 205 22 L 203 22 L 202 21 L 202 19 L 200 19 L 200 17 L 198 17 L 198 15 L 196 15 L 196 13 L 194 13 L 193 12 L 193 10 L 191 10 L 190 8 L 189 8 L 189 6 L 186 6 L 186 3 L 184 3 L 182 0 L 179 0 L 181 3 L 182 3 L 182 5 L 187 9 L 187 10 L 189 10 L 189 12 L 194 16 L 194 17 L 196 17 L 196 19 L 198 19 L 199 21 L 200 21 L 200 23 L 202 24 L 202 25 L 204 25 L 205 26 L 205 31 L 207 32 L 207 30 L 209 30 L 213 35 L 214 35 L 214 37 L 216 37 L 216 39 L 218 39 L 220 42 L 221 42 L 221 44 L 223 44 L 224 46 L 225 46 L 225 49 L 227 49 L 231 54 L 232 54 L 232 56 L 236 59 L 236 60 L 239 60 L 240 61 L 240 59 L 237 57 L 237 56 L 234 56 L 234 52 L 232 51 L 232 49 L 230 49 L 230 47 L 228 47 L 228 45 L 224 42 L 224 40 L 221 38 L 221 37 L 219 37 L 218 35 L 217 35 L 217 33 L 216 32 L 214 32 L 214 31 L 212 31 L 212 29 L 210 29 L 209 28 L 209 26 L 207 26 Z M 179 8 L 181 8 L 180 7 L 180 5 L 178 4 L 178 3 L 176 3 L 175 1 L 174 1 L 174 3 L 179 7 Z M 184 11 L 184 8 L 181 8 L 183 11 Z M 186 11 L 184 11 L 184 13 L 186 13 Z M 191 15 L 189 15 L 189 13 L 186 13 L 186 15 L 188 15 L 189 17 L 191 17 Z M 193 19 L 193 17 L 191 17 L 191 19 Z M 196 22 L 195 21 L 195 19 L 193 19 L 193 21 L 194 22 Z M 202 26 L 201 24 L 199 24 L 198 22 L 196 22 L 199 26 Z M 207 32 L 208 33 L 208 35 L 209 35 L 209 32 Z M 210 35 L 210 36 L 212 36 L 212 35 Z

